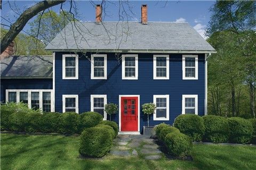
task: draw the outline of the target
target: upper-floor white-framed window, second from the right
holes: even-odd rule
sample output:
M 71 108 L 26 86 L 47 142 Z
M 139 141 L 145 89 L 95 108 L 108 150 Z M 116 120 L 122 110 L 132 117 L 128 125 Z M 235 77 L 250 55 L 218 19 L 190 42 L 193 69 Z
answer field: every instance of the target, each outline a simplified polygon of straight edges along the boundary
M 169 79 L 169 55 L 154 55 L 154 79 Z

